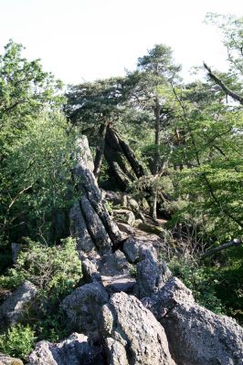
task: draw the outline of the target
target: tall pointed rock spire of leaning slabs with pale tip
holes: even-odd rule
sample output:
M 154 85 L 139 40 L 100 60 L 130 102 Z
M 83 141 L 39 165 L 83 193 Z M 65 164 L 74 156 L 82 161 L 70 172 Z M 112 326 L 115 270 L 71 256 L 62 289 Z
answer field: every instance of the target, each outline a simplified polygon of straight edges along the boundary
M 112 245 L 116 246 L 122 240 L 122 235 L 102 202 L 85 136 L 77 141 L 74 160 L 76 166 L 72 174 L 79 201 L 69 213 L 70 233 L 78 238 L 82 250 L 92 250 L 94 245 L 100 254 L 107 254 Z

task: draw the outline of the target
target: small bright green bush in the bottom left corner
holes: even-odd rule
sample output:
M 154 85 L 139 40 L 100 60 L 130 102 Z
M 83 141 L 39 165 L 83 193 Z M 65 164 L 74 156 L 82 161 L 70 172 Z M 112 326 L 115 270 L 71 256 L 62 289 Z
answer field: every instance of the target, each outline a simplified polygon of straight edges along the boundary
M 18 324 L 0 335 L 0 352 L 27 360 L 28 354 L 34 349 L 35 341 L 35 332 L 28 325 Z

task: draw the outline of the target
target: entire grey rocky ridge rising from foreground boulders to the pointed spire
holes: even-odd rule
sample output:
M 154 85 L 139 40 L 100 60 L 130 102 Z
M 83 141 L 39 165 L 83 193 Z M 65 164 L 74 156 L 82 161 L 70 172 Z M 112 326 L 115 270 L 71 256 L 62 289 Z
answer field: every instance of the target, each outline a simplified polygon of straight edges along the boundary
M 38 342 L 28 365 L 242 365 L 242 328 L 195 303 L 160 260 L 158 235 L 112 221 L 86 138 L 77 154 L 79 200 L 69 220 L 84 277 L 61 303 L 72 335 Z M 24 283 L 0 307 L 0 318 L 16 323 L 35 293 Z M 0 356 L 0 364 L 18 363 Z

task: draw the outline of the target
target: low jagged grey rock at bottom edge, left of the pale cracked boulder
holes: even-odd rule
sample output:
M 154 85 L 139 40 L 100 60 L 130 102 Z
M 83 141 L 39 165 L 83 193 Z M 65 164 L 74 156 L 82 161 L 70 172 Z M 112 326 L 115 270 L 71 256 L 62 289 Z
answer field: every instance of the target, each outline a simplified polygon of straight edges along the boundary
M 60 343 L 38 342 L 27 365 L 104 365 L 101 352 L 86 336 L 73 333 Z

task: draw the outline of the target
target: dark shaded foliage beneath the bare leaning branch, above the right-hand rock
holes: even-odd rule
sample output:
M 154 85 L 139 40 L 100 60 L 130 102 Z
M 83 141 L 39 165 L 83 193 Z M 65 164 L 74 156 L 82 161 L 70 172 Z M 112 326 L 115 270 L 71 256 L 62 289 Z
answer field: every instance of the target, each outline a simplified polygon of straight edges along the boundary
M 206 263 L 192 255 L 173 256 L 168 266 L 192 290 L 195 300 L 217 314 L 243 323 L 243 247 L 222 251 Z

